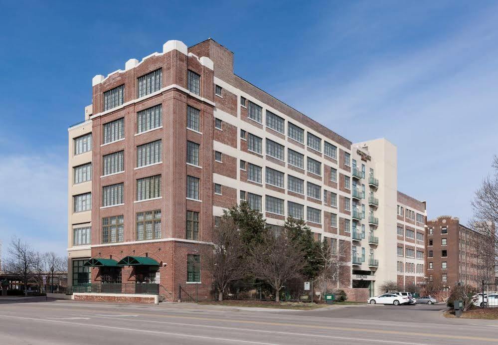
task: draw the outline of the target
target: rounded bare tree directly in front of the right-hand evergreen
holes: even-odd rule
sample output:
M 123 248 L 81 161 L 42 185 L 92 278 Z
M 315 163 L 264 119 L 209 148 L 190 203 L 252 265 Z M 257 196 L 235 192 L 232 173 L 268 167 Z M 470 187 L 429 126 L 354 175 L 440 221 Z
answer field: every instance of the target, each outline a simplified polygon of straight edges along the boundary
M 301 247 L 290 238 L 288 230 L 268 231 L 263 241 L 250 248 L 249 268 L 252 274 L 275 289 L 275 301 L 286 281 L 297 278 L 305 266 Z

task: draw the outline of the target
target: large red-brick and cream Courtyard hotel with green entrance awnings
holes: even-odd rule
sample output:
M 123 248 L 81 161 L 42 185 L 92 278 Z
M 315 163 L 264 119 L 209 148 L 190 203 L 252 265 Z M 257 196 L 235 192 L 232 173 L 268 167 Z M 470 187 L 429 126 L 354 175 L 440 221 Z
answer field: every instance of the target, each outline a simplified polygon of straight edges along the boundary
M 329 239 L 345 253 L 338 285 L 351 295 L 375 293 L 373 284 L 353 284 L 365 271 L 392 269 L 375 265 L 377 245 L 381 258 L 395 262 L 386 246 L 395 241 L 397 188 L 396 148 L 388 141 L 356 148 L 234 74 L 233 53 L 212 39 L 189 48 L 167 41 L 162 52 L 130 59 L 92 84 L 86 121 L 69 129 L 70 284 L 155 282 L 170 298 L 179 285 L 208 285 L 201 252 L 216 217 L 241 200 L 269 224 L 292 215 L 317 240 Z M 368 172 L 358 174 L 356 162 L 370 155 Z M 365 265 L 366 254 L 359 252 L 357 265 L 351 246 L 361 207 L 352 186 L 361 184 L 368 185 L 361 196 L 372 201 L 362 214 L 372 239 Z M 373 241 L 377 227 L 389 242 Z

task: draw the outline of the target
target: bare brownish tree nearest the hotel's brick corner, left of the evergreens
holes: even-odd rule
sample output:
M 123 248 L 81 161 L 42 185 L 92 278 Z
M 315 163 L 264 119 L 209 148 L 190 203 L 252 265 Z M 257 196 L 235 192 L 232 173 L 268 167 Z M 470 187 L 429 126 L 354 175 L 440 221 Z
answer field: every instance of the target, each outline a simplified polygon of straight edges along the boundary
M 241 279 L 245 273 L 244 243 L 233 219 L 225 214 L 213 229 L 214 248 L 206 255 L 206 269 L 213 275 L 213 283 L 218 290 L 218 301 L 228 284 Z

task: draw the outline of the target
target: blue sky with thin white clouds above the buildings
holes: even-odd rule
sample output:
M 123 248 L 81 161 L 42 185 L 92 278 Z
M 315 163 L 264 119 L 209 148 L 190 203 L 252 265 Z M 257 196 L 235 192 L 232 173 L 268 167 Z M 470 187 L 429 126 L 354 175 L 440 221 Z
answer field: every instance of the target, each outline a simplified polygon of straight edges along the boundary
M 498 153 L 493 1 L 0 0 L 0 240 L 67 246 L 67 127 L 91 79 L 208 37 L 235 72 L 353 142 L 398 147 L 398 189 L 472 215 Z M 36 183 L 35 183 L 36 182 Z

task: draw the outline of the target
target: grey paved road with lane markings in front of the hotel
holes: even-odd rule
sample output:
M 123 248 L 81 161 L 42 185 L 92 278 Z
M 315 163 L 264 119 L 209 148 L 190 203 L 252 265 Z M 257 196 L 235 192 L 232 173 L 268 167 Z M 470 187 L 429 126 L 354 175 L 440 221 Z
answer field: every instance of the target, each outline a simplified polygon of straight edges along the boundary
M 247 311 L 193 304 L 0 301 L 0 344 L 490 344 L 495 321 L 440 306 Z

